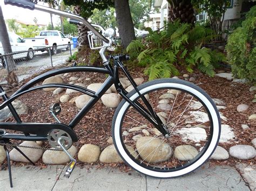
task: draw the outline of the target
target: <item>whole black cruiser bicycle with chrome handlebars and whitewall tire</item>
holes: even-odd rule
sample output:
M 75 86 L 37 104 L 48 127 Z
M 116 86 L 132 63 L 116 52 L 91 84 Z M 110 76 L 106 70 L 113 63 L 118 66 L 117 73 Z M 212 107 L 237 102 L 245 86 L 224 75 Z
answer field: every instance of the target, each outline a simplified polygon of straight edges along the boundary
M 210 96 L 201 88 L 179 79 L 159 79 L 137 86 L 123 64 L 123 61 L 129 60 L 129 56 L 105 56 L 107 47 L 111 47 L 113 41 L 113 29 L 104 30 L 103 35 L 82 17 L 36 5 L 28 0 L 5 0 L 5 4 L 49 12 L 70 18 L 70 23 L 86 25 L 91 30 L 88 36 L 90 47 L 100 49 L 99 54 L 104 65 L 72 66 L 46 72 L 26 83 L 10 97 L 7 97 L 0 87 L 0 96 L 4 99 L 0 110 L 7 105 L 17 121 L 0 123 L 0 127 L 4 129 L 0 131 L 0 141 L 5 148 L 5 144 L 10 143 L 11 139 L 48 141 L 53 148 L 69 155 L 71 163 L 65 174 L 69 177 L 77 162 L 68 152 L 72 142 L 78 140 L 73 128 L 114 84 L 123 100 L 112 120 L 113 143 L 120 157 L 133 169 L 157 178 L 172 178 L 194 171 L 210 158 L 220 137 L 220 116 Z M 100 28 L 98 25 L 94 26 Z M 93 46 L 96 36 L 102 40 L 100 47 Z M 113 66 L 110 60 L 113 60 Z M 119 70 L 122 70 L 134 88 L 130 93 L 119 80 Z M 33 87 L 48 77 L 69 72 L 97 72 L 109 76 L 97 92 L 64 83 Z M 53 105 L 50 109 L 57 123 L 23 123 L 11 102 L 30 91 L 52 87 L 77 90 L 91 96 L 91 99 L 68 125 L 58 121 L 57 114 L 61 111 L 59 104 Z M 5 130 L 15 130 L 23 134 L 6 133 Z

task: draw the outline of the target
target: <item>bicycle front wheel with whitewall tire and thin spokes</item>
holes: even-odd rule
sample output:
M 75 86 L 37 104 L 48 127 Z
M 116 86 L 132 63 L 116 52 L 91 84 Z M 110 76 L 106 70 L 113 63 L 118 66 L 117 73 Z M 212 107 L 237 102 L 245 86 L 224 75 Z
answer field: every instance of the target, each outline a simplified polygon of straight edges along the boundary
M 220 137 L 220 116 L 210 96 L 177 79 L 150 81 L 138 90 L 170 136 L 164 136 L 123 100 L 112 122 L 113 142 L 122 159 L 136 171 L 158 178 L 184 175 L 203 165 Z M 135 90 L 127 96 L 145 107 Z

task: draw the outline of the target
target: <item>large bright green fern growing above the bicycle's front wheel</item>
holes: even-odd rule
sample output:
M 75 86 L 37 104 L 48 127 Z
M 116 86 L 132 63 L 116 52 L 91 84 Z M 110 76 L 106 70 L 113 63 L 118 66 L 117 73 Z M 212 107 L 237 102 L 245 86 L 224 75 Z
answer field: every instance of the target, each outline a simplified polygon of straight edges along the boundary
M 180 22 L 169 23 L 160 32 L 150 31 L 145 40 L 134 40 L 127 47 L 131 58 L 137 58 L 139 65 L 145 66 L 149 79 L 178 75 L 178 65 L 188 72 L 197 67 L 201 72 L 213 76 L 214 64 L 225 60 L 217 51 L 203 47 L 215 37 L 214 32 L 203 26 Z

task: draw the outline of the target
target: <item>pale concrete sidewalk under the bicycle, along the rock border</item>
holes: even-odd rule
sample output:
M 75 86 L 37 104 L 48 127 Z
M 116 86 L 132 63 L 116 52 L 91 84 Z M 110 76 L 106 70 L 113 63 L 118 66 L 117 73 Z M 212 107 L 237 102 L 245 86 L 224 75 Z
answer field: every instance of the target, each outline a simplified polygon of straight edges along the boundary
M 10 188 L 8 171 L 0 171 L 0 190 L 250 190 L 230 166 L 210 167 L 206 164 L 173 179 L 152 178 L 134 171 L 124 173 L 110 167 L 75 168 L 66 179 L 63 168 L 12 167 L 14 188 Z

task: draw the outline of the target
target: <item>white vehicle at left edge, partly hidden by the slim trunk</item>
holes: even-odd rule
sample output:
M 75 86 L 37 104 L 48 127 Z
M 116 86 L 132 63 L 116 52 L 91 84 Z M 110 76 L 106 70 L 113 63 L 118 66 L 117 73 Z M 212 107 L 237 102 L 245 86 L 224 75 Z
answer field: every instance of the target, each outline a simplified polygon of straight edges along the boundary
M 26 42 L 23 38 L 21 38 L 14 32 L 8 32 L 8 36 L 11 44 L 12 53 L 20 52 L 20 51 L 28 51 L 27 53 L 14 54 L 13 56 L 15 60 L 22 59 L 22 58 L 32 60 L 34 58 L 35 54 L 33 52 L 33 46 L 30 43 Z M 0 40 L 0 55 L 4 55 L 4 50 L 3 50 L 1 40 Z M 3 57 L 1 57 L 0 62 L 1 62 L 1 65 L 4 66 Z

